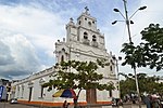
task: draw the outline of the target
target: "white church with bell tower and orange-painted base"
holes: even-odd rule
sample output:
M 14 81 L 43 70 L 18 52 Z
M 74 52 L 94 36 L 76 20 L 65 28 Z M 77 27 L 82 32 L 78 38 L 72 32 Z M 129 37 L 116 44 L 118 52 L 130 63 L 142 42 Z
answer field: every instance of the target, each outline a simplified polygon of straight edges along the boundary
M 66 24 L 66 39 L 64 38 L 62 41 L 58 40 L 58 42 L 55 42 L 54 53 L 57 63 L 73 59 L 96 62 L 97 58 L 104 58 L 110 63 L 109 66 L 98 70 L 104 77 L 101 82 L 113 83 L 115 90 L 96 90 L 91 95 L 83 90 L 78 98 L 79 105 L 86 105 L 88 99 L 90 103 L 91 100 L 96 100 L 96 104 L 111 104 L 112 97 L 120 97 L 118 79 L 115 73 L 116 62 L 113 55 L 108 53 L 104 41 L 104 35 L 97 28 L 97 19 L 89 14 L 86 8 L 76 23 L 74 23 L 73 18 L 70 18 L 70 22 Z M 15 97 L 20 103 L 25 104 L 61 106 L 65 99 L 73 104 L 72 98 L 52 97 L 57 90 L 48 92 L 48 89 L 41 86 L 45 82 L 52 79 L 50 76 L 55 71 L 55 67 L 52 66 L 12 83 L 11 97 Z

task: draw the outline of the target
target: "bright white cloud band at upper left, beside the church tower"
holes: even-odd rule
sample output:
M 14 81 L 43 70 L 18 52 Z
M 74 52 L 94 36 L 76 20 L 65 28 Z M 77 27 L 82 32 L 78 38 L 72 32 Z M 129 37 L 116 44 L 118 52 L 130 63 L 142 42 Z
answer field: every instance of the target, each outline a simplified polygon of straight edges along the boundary
M 65 35 L 65 23 L 59 14 L 23 5 L 2 5 L 0 13 L 2 28 L 25 35 L 34 45 L 51 52 L 57 39 Z

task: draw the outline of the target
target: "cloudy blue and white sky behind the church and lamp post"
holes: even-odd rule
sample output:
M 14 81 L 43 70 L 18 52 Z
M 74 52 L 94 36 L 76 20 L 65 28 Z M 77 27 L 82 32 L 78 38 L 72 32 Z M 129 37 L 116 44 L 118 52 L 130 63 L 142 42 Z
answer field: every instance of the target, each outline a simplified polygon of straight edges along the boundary
M 150 23 L 162 26 L 161 2 L 128 0 L 128 15 L 142 5 L 148 6 L 131 18 L 135 43 L 140 41 L 139 32 Z M 120 53 L 122 43 L 128 41 L 126 25 L 123 22 L 111 25 L 115 19 L 123 19 L 113 12 L 117 8 L 124 14 L 123 0 L 0 0 L 0 78 L 21 79 L 54 65 L 54 42 L 66 37 L 65 25 L 70 17 L 76 22 L 85 6 L 89 8 L 90 15 L 98 21 L 98 28 L 104 33 L 108 52 L 123 56 Z M 120 71 L 131 70 L 120 66 Z M 147 68 L 138 70 L 147 71 L 154 73 Z

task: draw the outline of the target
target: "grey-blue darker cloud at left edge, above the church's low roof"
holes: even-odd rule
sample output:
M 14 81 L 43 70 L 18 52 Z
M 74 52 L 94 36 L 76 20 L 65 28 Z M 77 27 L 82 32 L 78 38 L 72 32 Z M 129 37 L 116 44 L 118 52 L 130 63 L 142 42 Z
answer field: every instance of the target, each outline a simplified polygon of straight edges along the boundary
M 12 79 L 14 76 L 28 75 L 39 70 L 41 65 L 39 64 L 35 48 L 26 37 L 3 31 L 0 33 L 0 41 L 3 43 L 2 48 L 5 49 L 0 52 L 0 55 L 7 53 L 8 59 L 4 60 L 8 63 L 0 65 L 1 76 Z M 7 58 L 5 56 L 3 58 Z

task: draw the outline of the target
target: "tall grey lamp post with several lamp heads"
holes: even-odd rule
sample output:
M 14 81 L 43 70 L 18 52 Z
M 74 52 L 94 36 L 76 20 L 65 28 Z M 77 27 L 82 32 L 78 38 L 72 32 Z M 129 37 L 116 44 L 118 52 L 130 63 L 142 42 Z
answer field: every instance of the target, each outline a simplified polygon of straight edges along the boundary
M 113 11 L 114 11 L 114 12 L 118 12 L 118 13 L 123 16 L 123 18 L 125 19 L 125 23 L 126 23 L 126 25 L 127 25 L 127 30 L 128 30 L 129 43 L 133 44 L 129 25 L 130 25 L 130 24 L 134 24 L 134 22 L 130 21 L 130 18 L 131 18 L 138 11 L 145 10 L 147 6 L 141 6 L 141 8 L 139 8 L 138 10 L 136 10 L 136 11 L 134 12 L 133 15 L 130 15 L 130 17 L 128 17 L 128 12 L 127 12 L 127 6 L 126 6 L 127 1 L 126 1 L 126 0 L 123 0 L 123 1 L 124 1 L 125 16 L 122 14 L 122 12 L 121 12 L 118 9 L 114 9 Z M 116 24 L 117 22 L 118 22 L 118 21 L 114 21 L 114 22 L 112 23 L 112 25 Z M 134 65 L 135 65 L 135 64 L 134 64 Z M 141 105 L 140 105 L 140 93 L 139 93 L 139 85 L 138 85 L 136 66 L 134 66 L 134 73 L 135 73 L 136 89 L 137 89 L 138 100 L 139 100 L 139 108 L 141 108 Z

